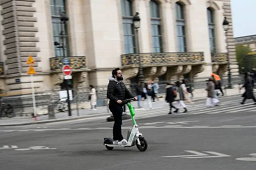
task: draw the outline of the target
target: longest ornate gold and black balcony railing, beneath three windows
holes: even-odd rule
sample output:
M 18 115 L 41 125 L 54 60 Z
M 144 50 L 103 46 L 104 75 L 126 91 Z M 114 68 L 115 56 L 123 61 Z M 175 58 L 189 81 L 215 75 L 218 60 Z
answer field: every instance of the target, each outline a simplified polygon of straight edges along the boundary
M 140 53 L 121 55 L 122 66 L 135 66 L 141 61 L 142 66 L 197 64 L 204 62 L 204 52 L 188 53 Z M 141 58 L 140 58 L 141 57 Z

